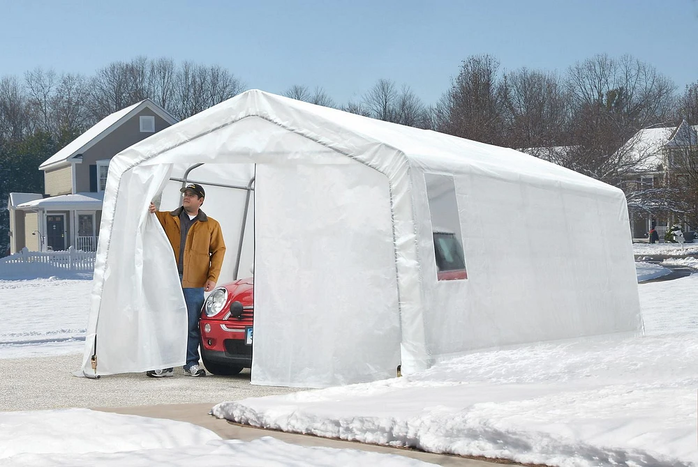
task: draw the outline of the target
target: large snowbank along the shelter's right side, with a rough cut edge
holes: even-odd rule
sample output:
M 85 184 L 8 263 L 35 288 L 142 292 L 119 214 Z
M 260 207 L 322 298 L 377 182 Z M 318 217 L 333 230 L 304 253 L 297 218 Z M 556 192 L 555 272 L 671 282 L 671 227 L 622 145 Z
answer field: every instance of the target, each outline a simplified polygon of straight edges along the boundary
M 645 337 L 470 353 L 426 372 L 218 404 L 332 438 L 552 466 L 698 462 L 698 275 L 639 286 Z

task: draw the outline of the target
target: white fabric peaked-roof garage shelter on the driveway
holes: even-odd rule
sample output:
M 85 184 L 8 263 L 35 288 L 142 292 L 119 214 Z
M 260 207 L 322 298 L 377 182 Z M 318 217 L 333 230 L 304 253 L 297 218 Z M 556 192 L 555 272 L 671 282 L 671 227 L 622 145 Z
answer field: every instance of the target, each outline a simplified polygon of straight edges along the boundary
M 196 166 L 191 169 L 191 167 Z M 202 209 L 255 265 L 252 382 L 322 387 L 446 355 L 641 332 L 623 192 L 512 149 L 247 91 L 112 159 L 86 376 L 184 364 L 186 308 L 151 199 Z M 226 186 L 223 186 L 226 185 Z M 467 279 L 438 280 L 435 235 Z M 96 355 L 96 369 L 91 357 Z

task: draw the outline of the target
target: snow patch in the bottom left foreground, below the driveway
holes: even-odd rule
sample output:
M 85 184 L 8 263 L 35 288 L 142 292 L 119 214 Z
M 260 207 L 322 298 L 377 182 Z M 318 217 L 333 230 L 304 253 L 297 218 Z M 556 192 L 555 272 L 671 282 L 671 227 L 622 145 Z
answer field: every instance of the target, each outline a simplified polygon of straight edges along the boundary
M 69 429 L 66 429 L 68 428 Z M 59 434 L 59 435 L 57 435 Z M 185 422 L 70 408 L 0 413 L 0 466 L 426 466 L 391 454 L 222 440 Z

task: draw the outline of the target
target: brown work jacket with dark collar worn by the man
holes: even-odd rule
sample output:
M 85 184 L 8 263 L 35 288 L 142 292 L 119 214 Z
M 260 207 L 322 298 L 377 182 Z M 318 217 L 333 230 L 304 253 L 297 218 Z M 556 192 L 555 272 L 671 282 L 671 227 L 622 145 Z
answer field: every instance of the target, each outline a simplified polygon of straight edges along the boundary
M 158 220 L 165 229 L 165 234 L 170 240 L 174 252 L 175 261 L 179 261 L 179 214 L 184 207 L 180 206 L 173 211 L 156 211 Z M 221 224 L 208 217 L 199 210 L 199 220 L 194 222 L 186 234 L 184 244 L 184 275 L 182 287 L 203 287 L 207 280 L 218 282 L 221 274 L 223 257 L 225 256 L 225 242 Z

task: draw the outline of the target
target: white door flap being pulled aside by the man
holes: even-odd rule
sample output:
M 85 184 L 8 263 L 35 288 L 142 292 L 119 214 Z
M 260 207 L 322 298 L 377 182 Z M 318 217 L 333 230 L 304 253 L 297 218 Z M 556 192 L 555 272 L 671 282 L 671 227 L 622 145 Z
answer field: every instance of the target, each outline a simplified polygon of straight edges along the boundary
M 113 169 L 110 164 L 110 171 L 121 169 L 118 161 Z M 145 372 L 184 360 L 186 305 L 177 265 L 165 232 L 147 211 L 169 169 L 135 167 L 124 173 L 121 183 L 128 196 L 120 197 L 119 204 L 116 187 L 105 192 L 102 225 L 109 225 L 110 232 L 98 245 L 94 283 L 101 287 L 92 293 L 91 308 L 104 304 L 114 312 L 89 316 L 83 361 L 87 375 L 95 374 L 90 362 L 95 349 L 98 374 Z M 116 180 L 107 177 L 107 185 Z

